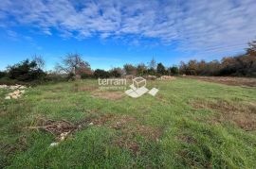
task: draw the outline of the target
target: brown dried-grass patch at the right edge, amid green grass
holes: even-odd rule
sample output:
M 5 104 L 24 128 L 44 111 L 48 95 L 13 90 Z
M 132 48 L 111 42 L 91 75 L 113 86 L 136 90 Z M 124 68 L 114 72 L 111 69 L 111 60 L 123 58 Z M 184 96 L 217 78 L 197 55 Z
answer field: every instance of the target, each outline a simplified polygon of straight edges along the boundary
M 238 104 L 227 101 L 202 101 L 197 100 L 191 103 L 195 109 L 217 110 L 221 112 L 213 122 L 221 123 L 232 121 L 237 126 L 245 130 L 256 129 L 256 105 L 255 104 Z

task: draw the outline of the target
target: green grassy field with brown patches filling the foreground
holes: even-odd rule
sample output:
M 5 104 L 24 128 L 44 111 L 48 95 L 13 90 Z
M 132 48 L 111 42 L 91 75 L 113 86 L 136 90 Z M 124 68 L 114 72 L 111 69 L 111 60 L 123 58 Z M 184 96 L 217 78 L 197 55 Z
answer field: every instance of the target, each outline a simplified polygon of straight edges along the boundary
M 255 88 L 189 78 L 147 87 L 159 92 L 134 99 L 99 91 L 97 80 L 17 100 L 0 91 L 0 168 L 256 168 Z M 76 129 L 50 147 L 60 133 L 35 129 L 42 119 Z

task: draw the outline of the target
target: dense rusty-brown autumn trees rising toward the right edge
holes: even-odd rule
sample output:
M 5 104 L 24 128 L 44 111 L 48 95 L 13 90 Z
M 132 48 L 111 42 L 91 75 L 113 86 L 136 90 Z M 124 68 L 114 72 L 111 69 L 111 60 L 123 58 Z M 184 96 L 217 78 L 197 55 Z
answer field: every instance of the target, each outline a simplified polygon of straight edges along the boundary
M 256 41 L 248 44 L 244 55 L 225 57 L 221 61 L 181 61 L 179 71 L 190 76 L 256 76 Z

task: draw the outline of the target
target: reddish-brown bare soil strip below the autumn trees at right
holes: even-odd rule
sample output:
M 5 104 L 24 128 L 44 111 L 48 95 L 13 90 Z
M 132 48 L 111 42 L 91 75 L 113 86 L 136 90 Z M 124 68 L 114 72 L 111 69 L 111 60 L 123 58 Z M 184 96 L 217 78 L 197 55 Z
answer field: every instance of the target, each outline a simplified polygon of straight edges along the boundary
M 256 87 L 256 78 L 233 76 L 185 76 L 202 81 L 227 84 L 231 86 Z

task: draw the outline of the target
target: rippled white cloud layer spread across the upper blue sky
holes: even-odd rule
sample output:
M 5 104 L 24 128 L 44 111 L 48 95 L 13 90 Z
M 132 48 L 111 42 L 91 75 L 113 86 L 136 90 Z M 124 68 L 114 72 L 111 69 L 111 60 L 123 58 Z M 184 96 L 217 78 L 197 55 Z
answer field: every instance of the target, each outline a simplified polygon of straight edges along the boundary
M 47 35 L 54 28 L 64 38 L 125 42 L 132 35 L 129 41 L 136 44 L 153 38 L 167 45 L 178 42 L 178 50 L 221 54 L 241 51 L 255 38 L 255 8 L 255 0 L 2 0 L 0 22 L 37 27 Z

